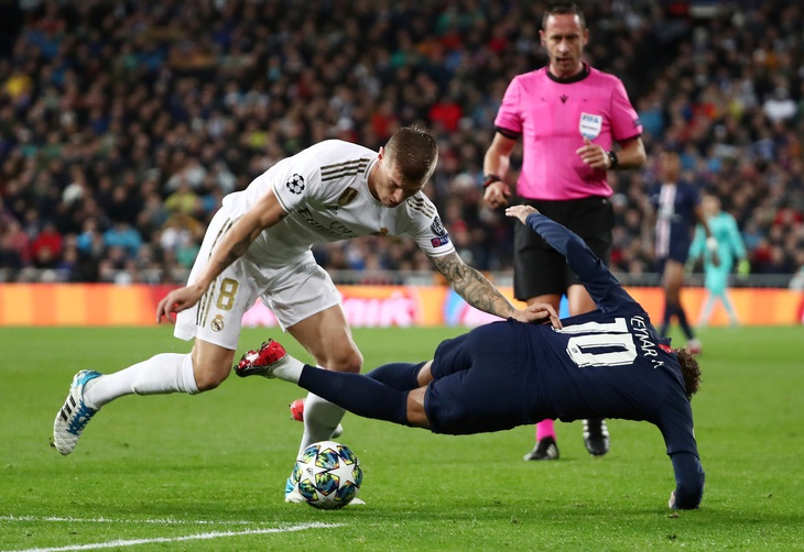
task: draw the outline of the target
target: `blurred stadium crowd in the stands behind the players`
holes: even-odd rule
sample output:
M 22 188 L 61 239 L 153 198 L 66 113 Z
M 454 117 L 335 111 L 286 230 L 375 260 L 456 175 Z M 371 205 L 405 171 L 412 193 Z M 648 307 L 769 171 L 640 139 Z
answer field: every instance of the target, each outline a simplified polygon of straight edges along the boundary
M 617 173 L 612 268 L 654 271 L 655 153 L 737 219 L 751 271 L 804 267 L 804 10 L 783 0 L 580 2 L 648 166 Z M 465 261 L 511 266 L 482 155 L 511 77 L 545 64 L 545 2 L 20 0 L 0 18 L 0 280 L 181 283 L 221 198 L 338 137 L 437 137 L 426 192 Z M 707 5 L 711 5 L 708 3 Z M 430 271 L 411 241 L 315 250 L 332 271 Z

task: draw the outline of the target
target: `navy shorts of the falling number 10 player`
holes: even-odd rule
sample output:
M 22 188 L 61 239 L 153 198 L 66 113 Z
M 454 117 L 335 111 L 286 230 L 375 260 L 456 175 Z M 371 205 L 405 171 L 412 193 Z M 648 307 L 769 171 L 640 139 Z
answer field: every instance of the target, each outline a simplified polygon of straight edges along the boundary
M 528 405 L 539 399 L 535 371 L 518 346 L 519 322 L 508 320 L 475 328 L 442 342 L 433 356 L 424 410 L 434 433 L 452 435 L 500 431 L 531 424 Z

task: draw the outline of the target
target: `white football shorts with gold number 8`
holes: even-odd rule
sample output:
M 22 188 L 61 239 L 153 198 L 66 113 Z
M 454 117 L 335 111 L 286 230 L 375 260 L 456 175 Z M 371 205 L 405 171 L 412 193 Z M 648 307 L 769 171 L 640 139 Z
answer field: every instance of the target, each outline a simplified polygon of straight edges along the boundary
M 209 223 L 188 283 L 204 272 L 213 247 L 225 233 L 221 230 L 230 225 L 225 211 L 220 209 Z M 258 297 L 273 311 L 283 331 L 341 302 L 329 274 L 311 251 L 284 266 L 270 268 L 258 266 L 247 253 L 218 275 L 193 308 L 178 313 L 173 334 L 237 350 L 242 317 Z

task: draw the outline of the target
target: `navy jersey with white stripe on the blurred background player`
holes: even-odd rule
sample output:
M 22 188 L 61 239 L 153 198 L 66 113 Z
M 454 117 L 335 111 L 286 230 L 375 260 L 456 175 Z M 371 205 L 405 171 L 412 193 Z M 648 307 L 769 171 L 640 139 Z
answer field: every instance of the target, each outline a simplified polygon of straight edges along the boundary
M 684 263 L 693 241 L 695 210 L 700 203 L 698 189 L 687 183 L 661 184 L 651 190 L 656 210 L 656 258 Z

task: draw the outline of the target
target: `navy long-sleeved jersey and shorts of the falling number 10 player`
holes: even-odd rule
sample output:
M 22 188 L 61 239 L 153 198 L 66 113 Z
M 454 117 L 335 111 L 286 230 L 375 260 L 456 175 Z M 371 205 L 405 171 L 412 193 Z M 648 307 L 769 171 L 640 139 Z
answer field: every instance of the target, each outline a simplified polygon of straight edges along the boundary
M 656 424 L 669 454 L 697 456 L 670 341 L 578 236 L 541 214 L 528 223 L 567 258 L 598 308 L 564 320 L 561 330 L 509 320 L 439 345 L 436 380 L 425 397 L 433 430 L 475 433 L 545 418 L 623 418 Z

